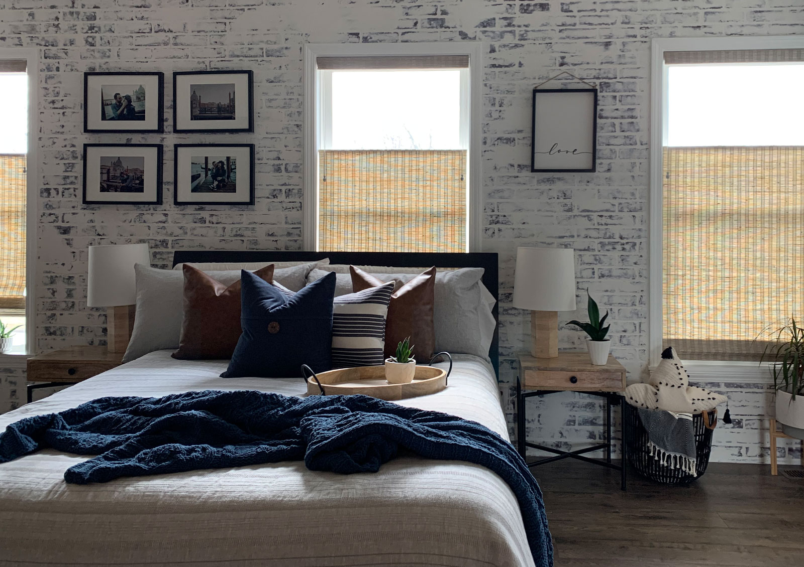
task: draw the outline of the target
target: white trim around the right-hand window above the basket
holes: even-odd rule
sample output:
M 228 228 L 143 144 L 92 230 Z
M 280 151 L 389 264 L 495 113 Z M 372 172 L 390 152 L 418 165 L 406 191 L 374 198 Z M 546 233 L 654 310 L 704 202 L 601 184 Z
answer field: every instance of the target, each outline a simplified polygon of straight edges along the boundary
M 804 36 L 657 38 L 650 45 L 650 271 L 648 345 L 650 370 L 662 357 L 662 145 L 667 141 L 667 65 L 665 51 L 802 49 Z M 684 361 L 693 380 L 772 382 L 766 365 L 738 361 Z

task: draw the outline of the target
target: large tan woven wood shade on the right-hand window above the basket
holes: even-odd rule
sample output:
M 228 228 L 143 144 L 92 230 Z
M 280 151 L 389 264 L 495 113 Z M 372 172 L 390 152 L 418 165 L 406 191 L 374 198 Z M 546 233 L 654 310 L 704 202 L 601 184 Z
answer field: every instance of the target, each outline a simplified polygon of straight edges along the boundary
M 757 361 L 763 329 L 804 319 L 804 148 L 663 158 L 662 342 L 691 360 Z

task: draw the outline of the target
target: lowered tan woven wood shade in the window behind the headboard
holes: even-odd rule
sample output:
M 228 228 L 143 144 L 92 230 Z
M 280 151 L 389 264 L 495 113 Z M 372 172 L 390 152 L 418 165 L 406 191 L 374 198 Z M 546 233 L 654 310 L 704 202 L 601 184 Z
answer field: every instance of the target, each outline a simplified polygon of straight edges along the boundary
M 466 150 L 321 150 L 318 249 L 466 252 Z

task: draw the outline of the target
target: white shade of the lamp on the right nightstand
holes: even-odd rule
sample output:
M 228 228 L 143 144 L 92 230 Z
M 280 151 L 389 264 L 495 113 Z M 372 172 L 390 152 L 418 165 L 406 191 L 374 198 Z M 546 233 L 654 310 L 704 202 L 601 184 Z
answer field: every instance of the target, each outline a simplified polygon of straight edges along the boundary
M 575 251 L 516 249 L 514 307 L 531 311 L 575 310 Z

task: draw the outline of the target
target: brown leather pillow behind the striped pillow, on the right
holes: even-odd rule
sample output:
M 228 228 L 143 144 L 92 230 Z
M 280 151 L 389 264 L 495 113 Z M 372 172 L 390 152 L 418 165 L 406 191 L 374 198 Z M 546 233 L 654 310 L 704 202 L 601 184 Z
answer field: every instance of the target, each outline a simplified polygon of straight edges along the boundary
M 352 289 L 362 292 L 384 284 L 359 267 L 350 266 Z M 435 312 L 436 268 L 431 267 L 396 289 L 388 305 L 385 322 L 385 356 L 392 357 L 396 345 L 410 337 L 414 345 L 413 357 L 419 364 L 427 364 L 436 349 Z

